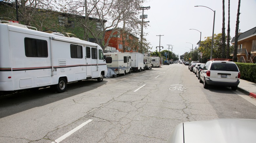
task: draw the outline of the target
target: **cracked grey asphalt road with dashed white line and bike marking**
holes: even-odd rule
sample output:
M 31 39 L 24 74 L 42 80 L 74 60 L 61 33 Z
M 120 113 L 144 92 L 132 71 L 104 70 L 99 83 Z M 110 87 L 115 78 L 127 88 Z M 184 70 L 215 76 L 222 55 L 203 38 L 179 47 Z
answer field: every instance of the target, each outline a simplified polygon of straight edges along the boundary
M 164 143 L 181 122 L 256 119 L 229 87 L 204 89 L 183 64 L 0 97 L 0 142 Z M 242 95 L 243 96 L 243 95 Z

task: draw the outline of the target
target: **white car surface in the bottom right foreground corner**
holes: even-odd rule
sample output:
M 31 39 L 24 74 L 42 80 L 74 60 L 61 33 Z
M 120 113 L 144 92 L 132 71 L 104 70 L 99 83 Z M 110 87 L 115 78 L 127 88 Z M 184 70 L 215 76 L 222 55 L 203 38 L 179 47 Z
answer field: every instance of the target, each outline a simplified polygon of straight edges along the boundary
M 256 119 L 212 119 L 178 124 L 166 143 L 254 143 Z

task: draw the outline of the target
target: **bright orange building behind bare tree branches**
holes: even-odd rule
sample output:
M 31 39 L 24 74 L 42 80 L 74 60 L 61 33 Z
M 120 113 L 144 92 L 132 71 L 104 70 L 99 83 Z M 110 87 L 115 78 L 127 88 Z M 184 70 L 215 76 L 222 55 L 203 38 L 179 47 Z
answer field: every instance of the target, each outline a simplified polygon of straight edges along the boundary
M 107 39 L 110 37 L 113 29 L 106 30 L 104 41 L 107 42 Z M 115 31 L 112 37 L 109 40 L 108 46 L 116 48 L 119 52 L 138 52 L 139 49 L 139 38 L 125 32 L 122 34 L 122 30 Z M 122 36 L 125 35 L 125 46 L 123 46 Z M 124 51 L 125 50 L 125 51 Z

